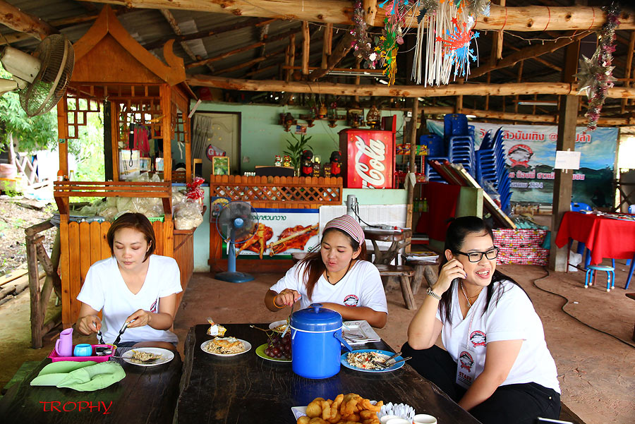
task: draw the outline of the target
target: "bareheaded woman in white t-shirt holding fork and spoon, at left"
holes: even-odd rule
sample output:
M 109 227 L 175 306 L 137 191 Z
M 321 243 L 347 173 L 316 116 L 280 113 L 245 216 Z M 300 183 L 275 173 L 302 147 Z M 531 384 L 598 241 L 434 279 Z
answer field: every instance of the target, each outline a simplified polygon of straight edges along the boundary
M 112 223 L 106 236 L 111 258 L 92 264 L 80 293 L 77 329 L 102 333 L 105 342 L 119 336 L 119 352 L 131 347 L 174 350 L 178 341 L 170 332 L 176 314 L 181 274 L 176 260 L 153 255 L 155 232 L 143 214 L 127 213 Z M 97 315 L 102 311 L 103 322 Z

